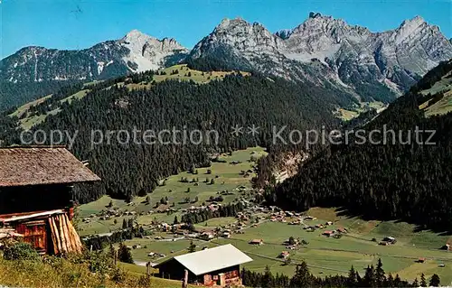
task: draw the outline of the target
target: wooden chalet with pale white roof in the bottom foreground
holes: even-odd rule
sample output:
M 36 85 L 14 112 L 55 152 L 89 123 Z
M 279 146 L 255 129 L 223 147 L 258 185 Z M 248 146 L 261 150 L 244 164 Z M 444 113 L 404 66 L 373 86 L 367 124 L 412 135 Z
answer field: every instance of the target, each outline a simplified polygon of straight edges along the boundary
M 240 286 L 240 265 L 250 261 L 248 255 L 228 244 L 175 256 L 154 267 L 162 278 L 183 280 L 187 270 L 188 283 L 224 287 Z

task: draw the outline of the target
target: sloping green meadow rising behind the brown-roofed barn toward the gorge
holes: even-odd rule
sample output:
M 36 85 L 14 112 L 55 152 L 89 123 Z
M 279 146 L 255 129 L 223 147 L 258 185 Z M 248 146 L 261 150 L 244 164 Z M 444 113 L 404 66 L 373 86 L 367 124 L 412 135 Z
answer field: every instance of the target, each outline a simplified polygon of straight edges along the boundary
M 241 170 L 247 171 L 252 169 L 254 163 L 248 162 L 251 156 L 259 157 L 263 154 L 265 154 L 265 151 L 261 147 L 236 151 L 232 153 L 231 156 L 223 154 L 221 155 L 221 159 L 224 159 L 227 163 L 212 163 L 212 166 L 209 168 L 199 168 L 198 174 L 196 175 L 182 172 L 168 177 L 165 181 L 165 186 L 157 187 L 152 193 L 148 194 L 151 199 L 151 204 L 145 203 L 145 197 L 136 197 L 133 200 L 134 206 L 127 206 L 127 203 L 124 200 L 112 200 L 113 206 L 118 207 L 121 210 L 137 211 L 137 213 L 154 210 L 156 213 L 150 215 L 146 214 L 137 218 L 138 222 L 143 225 L 149 224 L 153 220 L 172 223 L 174 216 L 177 215 L 180 219 L 181 214 L 175 213 L 173 215 L 167 215 L 166 213 L 157 213 L 158 210 L 167 209 L 170 205 L 161 205 L 158 209 L 155 209 L 155 203 L 162 198 L 168 197 L 168 202 L 170 204 L 174 202 L 174 209 L 200 206 L 202 205 L 202 202 L 208 200 L 210 196 L 218 196 L 217 192 L 221 190 L 229 190 L 234 193 L 234 195 L 223 196 L 223 203 L 229 203 L 242 195 L 242 192 L 237 190 L 238 187 L 245 186 L 248 189 L 251 188 L 250 179 L 254 174 L 251 174 L 250 177 L 243 177 L 239 175 L 239 173 Z M 233 165 L 231 164 L 231 161 L 238 161 L 241 163 Z M 206 174 L 208 169 L 212 171 L 212 174 Z M 218 178 L 215 178 L 215 176 L 218 176 Z M 181 177 L 186 177 L 189 181 L 193 178 L 198 178 L 199 186 L 194 186 L 194 183 L 180 182 Z M 214 179 L 215 183 L 204 183 L 203 181 L 207 178 L 209 178 L 209 180 Z M 190 192 L 187 193 L 186 191 L 188 188 L 190 188 Z M 197 203 L 181 203 L 185 197 L 190 197 L 190 199 L 193 200 L 196 196 L 199 199 Z M 96 214 L 102 209 L 106 209 L 110 200 L 111 199 L 108 196 L 104 196 L 97 201 L 81 205 L 78 209 L 78 218 L 88 218 L 90 214 Z M 107 233 L 111 230 L 118 229 L 122 226 L 123 218 L 116 219 L 117 224 L 114 224 L 114 219 L 99 220 L 99 218 L 92 218 L 92 221 L 89 224 L 81 223 L 79 221 L 78 227 L 80 229 L 80 235 Z

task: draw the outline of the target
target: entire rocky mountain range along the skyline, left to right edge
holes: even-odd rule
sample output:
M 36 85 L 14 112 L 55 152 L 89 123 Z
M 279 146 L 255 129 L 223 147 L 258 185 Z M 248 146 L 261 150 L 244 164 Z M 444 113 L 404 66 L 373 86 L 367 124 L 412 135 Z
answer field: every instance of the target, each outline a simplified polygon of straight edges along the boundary
M 191 51 L 137 30 L 80 51 L 25 47 L 1 60 L 0 82 L 14 91 L 12 84 L 108 79 L 187 62 L 198 70 L 250 70 L 339 89 L 358 101 L 391 102 L 450 58 L 452 43 L 419 16 L 372 33 L 311 13 L 296 28 L 277 33 L 260 23 L 224 19 Z

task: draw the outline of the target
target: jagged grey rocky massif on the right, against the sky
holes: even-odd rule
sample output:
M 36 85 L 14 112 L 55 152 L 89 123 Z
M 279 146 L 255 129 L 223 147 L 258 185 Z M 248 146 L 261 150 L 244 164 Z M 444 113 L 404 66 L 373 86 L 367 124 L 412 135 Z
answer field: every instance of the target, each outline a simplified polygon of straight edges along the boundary
M 400 94 L 441 60 L 452 44 L 437 26 L 416 17 L 372 33 L 341 19 L 310 14 L 293 30 L 272 34 L 259 23 L 223 20 L 195 45 L 189 62 L 198 68 L 249 69 L 314 84 L 334 80 L 361 98 Z

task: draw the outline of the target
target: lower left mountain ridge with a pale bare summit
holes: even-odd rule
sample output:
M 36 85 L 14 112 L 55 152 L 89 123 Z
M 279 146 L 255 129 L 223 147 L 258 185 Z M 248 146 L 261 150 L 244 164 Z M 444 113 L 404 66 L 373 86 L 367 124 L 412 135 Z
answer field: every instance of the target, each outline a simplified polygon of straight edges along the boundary
M 25 47 L 1 61 L 0 79 L 14 83 L 107 79 L 157 70 L 167 62 L 178 62 L 187 51 L 174 39 L 158 40 L 133 30 L 122 39 L 80 51 Z

